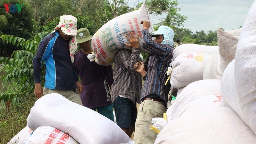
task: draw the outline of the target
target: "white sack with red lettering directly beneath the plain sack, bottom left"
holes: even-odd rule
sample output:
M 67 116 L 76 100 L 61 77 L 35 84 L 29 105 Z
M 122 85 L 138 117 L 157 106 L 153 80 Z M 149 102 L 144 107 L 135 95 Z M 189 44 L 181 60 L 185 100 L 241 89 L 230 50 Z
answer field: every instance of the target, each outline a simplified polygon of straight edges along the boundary
M 26 140 L 25 144 L 78 144 L 78 142 L 67 133 L 52 126 L 40 126 Z

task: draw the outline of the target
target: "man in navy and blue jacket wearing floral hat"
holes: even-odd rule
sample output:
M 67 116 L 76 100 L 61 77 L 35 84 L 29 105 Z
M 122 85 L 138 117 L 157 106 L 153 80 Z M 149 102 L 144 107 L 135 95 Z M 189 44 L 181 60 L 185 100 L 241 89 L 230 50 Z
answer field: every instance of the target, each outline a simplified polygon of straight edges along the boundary
M 77 19 L 72 15 L 60 16 L 59 25 L 39 43 L 33 59 L 34 95 L 58 93 L 70 101 L 82 105 L 79 93 L 82 85 L 73 65 L 77 47 L 75 35 Z M 41 86 L 41 65 L 45 61 L 46 74 L 44 88 Z

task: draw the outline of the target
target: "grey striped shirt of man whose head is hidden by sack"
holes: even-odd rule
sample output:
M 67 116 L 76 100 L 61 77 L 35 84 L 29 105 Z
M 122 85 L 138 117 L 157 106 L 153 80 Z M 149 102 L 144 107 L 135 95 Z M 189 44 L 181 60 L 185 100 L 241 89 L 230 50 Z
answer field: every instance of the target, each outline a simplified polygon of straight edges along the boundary
M 141 75 L 134 69 L 134 64 L 140 61 L 140 50 L 120 49 L 114 60 L 113 78 L 111 86 L 112 102 L 119 95 L 138 102 L 141 92 Z

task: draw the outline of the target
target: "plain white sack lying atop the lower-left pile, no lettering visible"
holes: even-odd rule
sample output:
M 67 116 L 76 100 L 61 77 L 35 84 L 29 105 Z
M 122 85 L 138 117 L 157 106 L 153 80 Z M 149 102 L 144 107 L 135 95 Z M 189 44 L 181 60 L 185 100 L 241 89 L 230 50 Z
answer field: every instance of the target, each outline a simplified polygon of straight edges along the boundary
M 68 133 L 80 144 L 133 144 L 113 121 L 94 110 L 56 94 L 39 98 L 27 118 L 29 128 L 52 126 Z

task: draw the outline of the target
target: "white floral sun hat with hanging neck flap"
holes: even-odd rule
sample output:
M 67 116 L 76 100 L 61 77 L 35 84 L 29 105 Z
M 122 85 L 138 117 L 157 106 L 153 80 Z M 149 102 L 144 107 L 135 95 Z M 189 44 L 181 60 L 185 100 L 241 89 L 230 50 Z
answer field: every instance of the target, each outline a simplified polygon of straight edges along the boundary
M 77 19 L 72 15 L 62 15 L 60 16 L 59 25 L 55 27 L 53 33 L 55 32 L 56 28 L 61 28 L 62 32 L 66 35 L 73 36 L 69 41 L 69 52 L 71 61 L 74 62 L 74 54 L 77 48 L 76 38 L 75 35 L 77 34 L 76 29 L 76 22 Z

